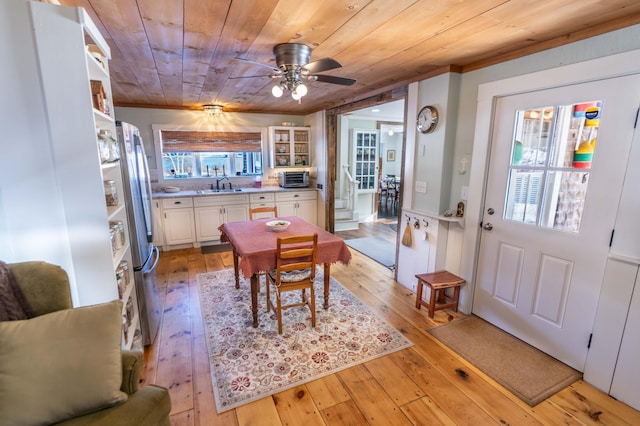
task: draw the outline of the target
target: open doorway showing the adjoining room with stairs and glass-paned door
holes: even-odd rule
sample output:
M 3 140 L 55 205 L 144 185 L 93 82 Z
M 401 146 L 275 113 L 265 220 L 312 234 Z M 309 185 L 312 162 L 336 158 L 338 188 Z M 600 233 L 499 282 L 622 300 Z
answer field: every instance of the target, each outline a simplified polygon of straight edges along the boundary
M 405 100 L 342 111 L 337 115 L 336 127 L 334 231 L 351 241 L 352 248 L 394 270 L 402 197 Z

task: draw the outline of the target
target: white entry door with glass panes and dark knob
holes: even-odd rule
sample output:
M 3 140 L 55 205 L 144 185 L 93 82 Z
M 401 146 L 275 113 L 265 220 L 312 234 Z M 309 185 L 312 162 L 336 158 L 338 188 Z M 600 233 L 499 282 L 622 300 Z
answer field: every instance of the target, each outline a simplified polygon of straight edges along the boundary
M 473 312 L 583 371 L 640 76 L 499 98 Z

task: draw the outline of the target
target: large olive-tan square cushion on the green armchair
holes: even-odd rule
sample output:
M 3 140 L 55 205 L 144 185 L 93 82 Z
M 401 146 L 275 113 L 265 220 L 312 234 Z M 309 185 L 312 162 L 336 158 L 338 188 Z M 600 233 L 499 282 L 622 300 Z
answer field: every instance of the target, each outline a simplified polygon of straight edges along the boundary
M 0 424 L 51 424 L 127 399 L 122 302 L 0 322 Z

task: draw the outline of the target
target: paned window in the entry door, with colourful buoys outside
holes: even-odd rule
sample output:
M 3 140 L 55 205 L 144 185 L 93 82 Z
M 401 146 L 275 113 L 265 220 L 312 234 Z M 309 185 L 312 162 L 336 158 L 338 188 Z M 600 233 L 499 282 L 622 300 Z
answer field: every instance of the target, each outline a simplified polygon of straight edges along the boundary
M 504 218 L 579 232 L 602 103 L 518 110 Z

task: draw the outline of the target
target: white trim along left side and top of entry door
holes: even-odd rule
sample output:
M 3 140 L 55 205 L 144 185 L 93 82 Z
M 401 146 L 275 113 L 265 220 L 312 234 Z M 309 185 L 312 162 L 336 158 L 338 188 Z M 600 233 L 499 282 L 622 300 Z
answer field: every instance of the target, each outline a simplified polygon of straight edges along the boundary
M 640 74 L 640 49 L 478 86 L 476 127 L 469 176 L 469 200 L 465 213 L 460 262 L 460 274 L 467 280 L 467 291 L 470 292 L 470 295 L 464 298 L 460 306 L 463 312 L 471 312 L 472 310 L 495 99 L 501 96 L 632 74 Z

